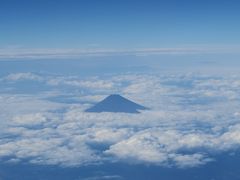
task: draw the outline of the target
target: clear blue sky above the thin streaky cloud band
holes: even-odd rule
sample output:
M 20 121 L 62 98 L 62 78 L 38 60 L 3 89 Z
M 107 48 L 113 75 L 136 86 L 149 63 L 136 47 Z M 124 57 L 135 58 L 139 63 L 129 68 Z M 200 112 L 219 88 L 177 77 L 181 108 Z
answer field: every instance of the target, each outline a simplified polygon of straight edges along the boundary
M 0 47 L 234 45 L 238 0 L 1 0 Z

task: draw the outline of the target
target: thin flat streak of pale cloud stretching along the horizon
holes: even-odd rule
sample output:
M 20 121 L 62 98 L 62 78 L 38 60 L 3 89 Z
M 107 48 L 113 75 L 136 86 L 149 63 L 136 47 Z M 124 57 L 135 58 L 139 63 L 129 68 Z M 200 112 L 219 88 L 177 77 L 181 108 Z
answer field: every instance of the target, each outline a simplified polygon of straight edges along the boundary
M 44 58 L 78 58 L 84 56 L 117 56 L 117 55 L 161 55 L 161 54 L 209 54 L 239 53 L 239 47 L 170 47 L 170 48 L 134 48 L 134 49 L 60 49 L 60 48 L 2 48 L 0 59 L 44 59 Z

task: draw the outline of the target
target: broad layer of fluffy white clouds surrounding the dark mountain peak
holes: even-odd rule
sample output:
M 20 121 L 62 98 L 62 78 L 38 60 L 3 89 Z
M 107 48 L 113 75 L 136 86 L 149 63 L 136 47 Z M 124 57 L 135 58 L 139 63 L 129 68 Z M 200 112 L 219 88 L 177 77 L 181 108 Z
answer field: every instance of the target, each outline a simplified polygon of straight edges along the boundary
M 0 95 L 2 161 L 61 166 L 124 161 L 187 168 L 240 147 L 240 76 L 40 79 L 50 85 L 47 93 Z M 55 93 L 52 89 L 60 85 L 87 91 L 63 88 Z M 90 102 L 115 90 L 151 109 L 140 114 L 84 112 Z M 50 99 L 69 94 L 81 103 Z

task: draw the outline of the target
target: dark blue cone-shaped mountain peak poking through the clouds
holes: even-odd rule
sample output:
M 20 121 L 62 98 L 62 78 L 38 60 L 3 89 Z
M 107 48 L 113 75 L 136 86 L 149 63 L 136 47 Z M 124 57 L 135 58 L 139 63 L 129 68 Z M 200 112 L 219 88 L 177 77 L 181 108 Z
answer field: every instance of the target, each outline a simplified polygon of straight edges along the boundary
M 93 107 L 86 109 L 85 112 L 124 112 L 139 113 L 138 110 L 147 109 L 135 102 L 132 102 L 118 94 L 112 94 Z

